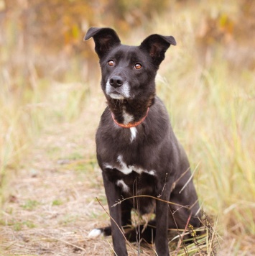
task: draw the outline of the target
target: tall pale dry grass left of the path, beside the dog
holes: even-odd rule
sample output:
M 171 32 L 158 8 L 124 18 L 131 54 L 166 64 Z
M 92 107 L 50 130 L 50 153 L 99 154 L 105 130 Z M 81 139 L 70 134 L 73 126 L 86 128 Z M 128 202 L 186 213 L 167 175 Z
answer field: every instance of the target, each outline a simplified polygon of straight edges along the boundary
M 22 43 L 24 35 L 16 19 L 14 12 L 13 20 L 1 24 L 5 34 L 0 38 L 0 206 L 9 191 L 6 178 L 19 171 L 21 160 L 47 122 L 77 117 L 89 93 L 89 87 L 81 83 L 80 58 L 65 60 L 68 72 L 59 72 L 60 78 L 55 79 L 54 73 L 57 56 L 40 70 L 42 52 Z

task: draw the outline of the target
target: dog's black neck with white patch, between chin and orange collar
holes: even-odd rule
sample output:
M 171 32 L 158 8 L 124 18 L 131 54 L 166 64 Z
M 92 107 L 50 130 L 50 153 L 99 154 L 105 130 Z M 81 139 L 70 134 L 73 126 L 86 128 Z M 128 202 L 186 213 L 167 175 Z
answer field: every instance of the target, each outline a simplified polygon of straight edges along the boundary
M 154 104 L 154 97 L 147 101 L 108 100 L 113 122 L 120 127 L 131 128 L 141 124 L 146 119 L 149 107 Z

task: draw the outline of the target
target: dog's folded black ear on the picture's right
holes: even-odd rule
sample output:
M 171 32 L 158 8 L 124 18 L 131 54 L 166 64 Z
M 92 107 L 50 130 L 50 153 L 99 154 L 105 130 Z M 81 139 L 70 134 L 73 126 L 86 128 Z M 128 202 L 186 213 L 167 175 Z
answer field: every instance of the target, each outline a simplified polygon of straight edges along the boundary
M 174 37 L 154 34 L 145 38 L 140 48 L 149 52 L 154 63 L 159 65 L 164 60 L 164 52 L 166 52 L 170 45 L 176 45 Z

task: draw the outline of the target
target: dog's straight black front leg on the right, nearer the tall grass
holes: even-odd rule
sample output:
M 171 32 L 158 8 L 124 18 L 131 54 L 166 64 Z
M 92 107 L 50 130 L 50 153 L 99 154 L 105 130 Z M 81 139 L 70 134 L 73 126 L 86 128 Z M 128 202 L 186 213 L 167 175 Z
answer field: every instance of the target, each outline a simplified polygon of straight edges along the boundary
M 163 191 L 162 191 L 163 189 Z M 170 188 L 165 184 L 161 186 L 161 193 L 159 194 L 159 199 L 164 201 L 169 201 L 170 198 Z M 156 252 L 158 256 L 169 256 L 169 247 L 167 239 L 167 229 L 168 229 L 168 216 L 169 209 L 168 204 L 163 201 L 156 201 L 156 237 L 155 245 Z

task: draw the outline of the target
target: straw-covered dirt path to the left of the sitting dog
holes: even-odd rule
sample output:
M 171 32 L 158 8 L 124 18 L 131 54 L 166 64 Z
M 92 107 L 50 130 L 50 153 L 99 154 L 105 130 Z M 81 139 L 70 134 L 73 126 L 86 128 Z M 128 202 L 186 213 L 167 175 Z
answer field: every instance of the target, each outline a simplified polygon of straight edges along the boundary
M 0 226 L 0 255 L 111 255 L 108 241 L 88 239 L 108 224 L 94 135 L 102 99 L 79 120 L 49 122 L 10 184 Z M 93 117 L 93 118 L 92 118 Z

